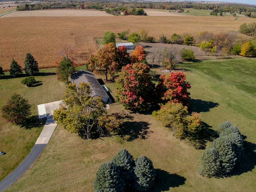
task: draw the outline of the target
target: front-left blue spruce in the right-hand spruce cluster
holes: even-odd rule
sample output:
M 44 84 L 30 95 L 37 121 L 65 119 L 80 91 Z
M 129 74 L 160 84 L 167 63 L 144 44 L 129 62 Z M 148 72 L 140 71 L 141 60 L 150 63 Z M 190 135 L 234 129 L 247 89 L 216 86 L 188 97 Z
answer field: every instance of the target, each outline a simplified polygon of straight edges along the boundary
M 214 148 L 207 148 L 200 156 L 198 173 L 202 176 L 211 178 L 218 177 L 221 171 L 219 153 Z

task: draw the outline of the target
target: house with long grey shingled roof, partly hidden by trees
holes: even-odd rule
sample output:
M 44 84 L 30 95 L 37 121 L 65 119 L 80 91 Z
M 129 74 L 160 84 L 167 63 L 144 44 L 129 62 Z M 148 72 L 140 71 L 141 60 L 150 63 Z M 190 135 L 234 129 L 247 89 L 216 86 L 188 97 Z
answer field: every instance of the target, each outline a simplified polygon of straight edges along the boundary
M 77 87 L 80 82 L 90 83 L 92 97 L 100 96 L 105 103 L 111 102 L 108 94 L 106 93 L 108 92 L 108 89 L 105 85 L 100 85 L 93 72 L 80 69 L 72 74 L 70 81 L 71 83 L 76 83 Z

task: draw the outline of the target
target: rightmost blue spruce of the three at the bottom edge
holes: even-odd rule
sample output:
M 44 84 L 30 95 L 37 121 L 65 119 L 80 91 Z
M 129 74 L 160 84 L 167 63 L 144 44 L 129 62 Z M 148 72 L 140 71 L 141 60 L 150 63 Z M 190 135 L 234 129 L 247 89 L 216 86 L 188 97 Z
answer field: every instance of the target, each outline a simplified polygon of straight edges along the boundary
M 139 191 L 150 189 L 155 182 L 156 170 L 150 159 L 139 156 L 135 161 L 132 186 Z

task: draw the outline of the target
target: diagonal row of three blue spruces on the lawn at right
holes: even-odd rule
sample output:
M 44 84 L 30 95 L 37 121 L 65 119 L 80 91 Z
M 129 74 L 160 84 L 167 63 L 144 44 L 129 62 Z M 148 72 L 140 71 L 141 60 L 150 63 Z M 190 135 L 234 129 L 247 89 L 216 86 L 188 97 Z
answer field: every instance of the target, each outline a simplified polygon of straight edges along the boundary
M 218 126 L 219 137 L 199 158 L 198 173 L 205 177 L 223 177 L 232 172 L 242 156 L 243 138 L 236 126 L 223 122 Z

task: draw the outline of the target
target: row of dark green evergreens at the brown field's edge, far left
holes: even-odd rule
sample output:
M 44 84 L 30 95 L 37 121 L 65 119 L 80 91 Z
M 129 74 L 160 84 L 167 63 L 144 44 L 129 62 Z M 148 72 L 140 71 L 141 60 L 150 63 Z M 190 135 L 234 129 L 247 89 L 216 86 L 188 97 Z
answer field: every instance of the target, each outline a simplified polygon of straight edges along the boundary
M 24 66 L 25 73 L 28 76 L 35 76 L 39 74 L 38 63 L 30 53 L 26 54 Z M 19 77 L 23 74 L 22 67 L 14 59 L 12 59 L 9 72 L 10 76 L 14 78 Z M 4 76 L 2 67 L 0 67 L 0 76 Z

